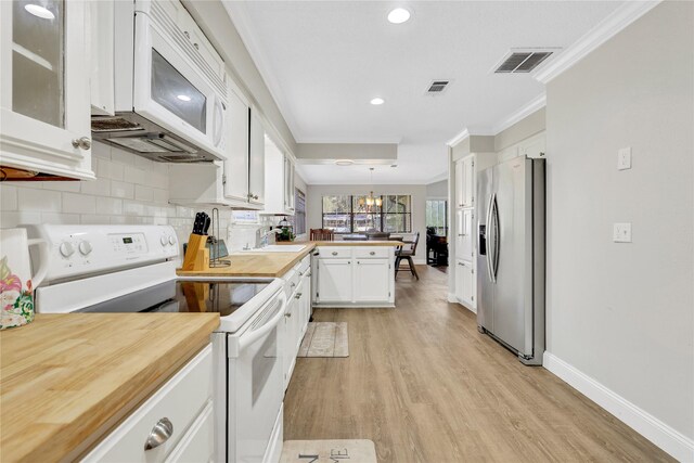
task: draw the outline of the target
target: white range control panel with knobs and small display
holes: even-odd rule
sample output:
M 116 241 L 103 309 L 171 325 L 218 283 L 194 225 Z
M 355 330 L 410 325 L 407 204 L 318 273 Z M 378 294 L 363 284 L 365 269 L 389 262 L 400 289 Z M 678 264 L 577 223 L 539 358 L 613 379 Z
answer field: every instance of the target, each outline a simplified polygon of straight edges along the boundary
M 29 237 L 46 241 L 48 256 L 31 248 L 37 268 L 49 261 L 47 281 L 104 273 L 179 257 L 176 232 L 169 226 L 26 226 Z

